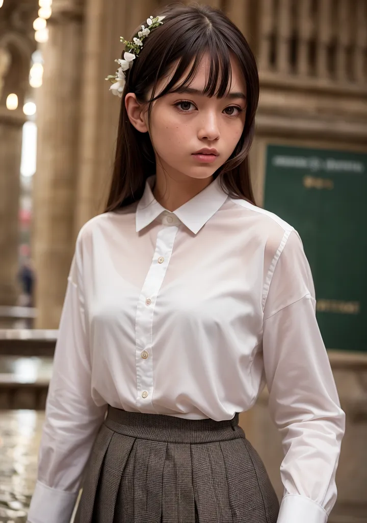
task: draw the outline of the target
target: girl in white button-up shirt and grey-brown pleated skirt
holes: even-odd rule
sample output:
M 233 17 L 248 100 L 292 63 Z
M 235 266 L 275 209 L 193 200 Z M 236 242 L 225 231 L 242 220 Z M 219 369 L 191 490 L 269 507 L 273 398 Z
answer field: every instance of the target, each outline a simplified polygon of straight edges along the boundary
M 325 523 L 344 413 L 297 232 L 255 206 L 254 56 L 176 5 L 125 42 L 106 212 L 66 292 L 31 523 Z M 238 426 L 265 383 L 279 504 Z

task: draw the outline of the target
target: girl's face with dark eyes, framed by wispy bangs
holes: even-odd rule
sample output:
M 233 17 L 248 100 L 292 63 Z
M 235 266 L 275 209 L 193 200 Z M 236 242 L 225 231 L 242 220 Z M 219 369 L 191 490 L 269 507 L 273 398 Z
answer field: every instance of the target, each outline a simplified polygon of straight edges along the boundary
M 210 68 L 209 58 L 204 56 L 185 92 L 169 93 L 153 102 L 149 134 L 157 170 L 203 179 L 228 160 L 241 138 L 246 109 L 243 75 L 236 60 L 231 59 L 231 66 L 232 83 L 224 98 L 202 94 Z M 168 81 L 164 79 L 156 93 Z

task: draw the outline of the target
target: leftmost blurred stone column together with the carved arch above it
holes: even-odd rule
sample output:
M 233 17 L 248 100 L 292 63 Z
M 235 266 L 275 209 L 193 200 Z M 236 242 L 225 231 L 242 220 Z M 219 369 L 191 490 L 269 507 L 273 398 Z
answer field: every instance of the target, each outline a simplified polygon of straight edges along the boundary
M 4 9 L 5 7 L 5 9 Z M 34 40 L 28 36 L 30 13 L 22 4 L 6 5 L 0 14 L 0 305 L 15 305 L 19 246 L 19 192 L 22 107 Z M 6 108 L 10 93 L 18 97 L 15 110 Z

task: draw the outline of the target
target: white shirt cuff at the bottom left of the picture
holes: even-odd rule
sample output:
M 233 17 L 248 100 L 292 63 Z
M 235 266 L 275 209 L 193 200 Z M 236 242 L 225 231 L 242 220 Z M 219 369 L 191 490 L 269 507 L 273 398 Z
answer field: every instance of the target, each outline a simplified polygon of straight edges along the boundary
M 40 481 L 35 485 L 28 512 L 29 523 L 70 523 L 78 492 L 48 487 Z

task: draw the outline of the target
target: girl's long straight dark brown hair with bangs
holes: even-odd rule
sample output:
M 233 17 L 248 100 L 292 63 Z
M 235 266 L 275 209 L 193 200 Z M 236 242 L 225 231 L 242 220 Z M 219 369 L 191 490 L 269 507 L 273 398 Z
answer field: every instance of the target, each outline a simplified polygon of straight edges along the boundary
M 149 133 L 140 133 L 129 121 L 124 101 L 126 93 L 135 93 L 140 103 L 148 103 L 150 115 L 152 101 L 190 84 L 205 53 L 208 53 L 211 62 L 204 94 L 219 98 L 226 95 L 231 83 L 231 54 L 238 60 L 247 89 L 242 136 L 230 158 L 214 176 L 222 174 L 223 189 L 231 197 L 255 203 L 248 152 L 254 136 L 259 80 L 256 61 L 245 37 L 226 15 L 209 6 L 173 4 L 158 14 L 165 16 L 163 25 L 144 40 L 143 49 L 126 75 L 115 164 L 105 212 L 139 200 L 143 196 L 146 179 L 156 173 L 155 153 Z M 171 81 L 155 96 L 158 82 L 175 62 L 178 65 Z M 151 98 L 147 99 L 151 88 Z

